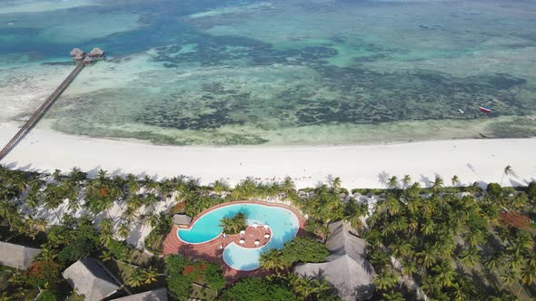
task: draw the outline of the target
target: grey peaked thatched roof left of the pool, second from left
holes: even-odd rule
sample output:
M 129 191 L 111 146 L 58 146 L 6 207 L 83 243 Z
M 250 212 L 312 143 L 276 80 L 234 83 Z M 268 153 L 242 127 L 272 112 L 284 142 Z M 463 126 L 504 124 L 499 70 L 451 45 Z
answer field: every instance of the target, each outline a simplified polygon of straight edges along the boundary
M 78 294 L 85 296 L 86 301 L 103 300 L 119 289 L 98 260 L 91 257 L 76 261 L 65 269 L 63 275 Z

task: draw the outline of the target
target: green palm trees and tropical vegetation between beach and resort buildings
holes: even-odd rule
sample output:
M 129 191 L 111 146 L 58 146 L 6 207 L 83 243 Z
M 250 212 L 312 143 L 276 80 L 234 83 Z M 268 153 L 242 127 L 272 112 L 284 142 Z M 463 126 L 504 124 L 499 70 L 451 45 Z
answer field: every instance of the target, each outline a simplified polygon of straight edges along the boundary
M 432 299 L 530 299 L 536 291 L 536 183 L 501 187 L 512 174 L 505 168 L 500 182 L 485 189 L 479 183 L 463 187 L 457 176 L 447 181 L 453 187 L 434 177 L 426 188 L 408 175 L 392 176 L 387 189 L 350 193 L 339 178 L 314 189 L 294 189 L 290 179 L 246 179 L 232 188 L 223 180 L 203 186 L 186 177 L 157 181 L 98 170 L 90 178 L 78 169 L 47 175 L 0 167 L 0 238 L 42 248 L 27 271 L 0 270 L 2 298 L 34 299 L 39 292 L 42 300 L 75 298 L 61 272 L 80 258 L 97 257 L 133 292 L 166 286 L 184 299 L 195 284 L 221 292 L 223 300 L 332 300 L 333 287 L 322 275 L 290 271 L 301 262 L 324 261 L 328 225 L 344 220 L 369 244 L 378 299 L 414 297 L 413 282 Z M 288 201 L 309 217 L 306 237 L 262 255 L 272 276 L 225 286 L 221 264 L 151 257 L 129 244 L 150 228 L 144 246 L 158 255 L 174 213 L 193 217 L 226 201 L 267 197 Z M 221 224 L 231 234 L 244 222 L 239 216 Z

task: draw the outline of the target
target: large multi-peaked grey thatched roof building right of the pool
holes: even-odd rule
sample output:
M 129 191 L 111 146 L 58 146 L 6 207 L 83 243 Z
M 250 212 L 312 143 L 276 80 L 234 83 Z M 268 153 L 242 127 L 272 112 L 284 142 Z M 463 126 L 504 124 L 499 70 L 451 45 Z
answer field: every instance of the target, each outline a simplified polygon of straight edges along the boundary
M 323 276 L 337 290 L 342 300 L 367 299 L 372 297 L 374 269 L 363 257 L 366 243 L 353 236 L 342 221 L 330 224 L 326 248 L 332 253 L 326 262 L 309 263 L 294 268 L 303 276 Z

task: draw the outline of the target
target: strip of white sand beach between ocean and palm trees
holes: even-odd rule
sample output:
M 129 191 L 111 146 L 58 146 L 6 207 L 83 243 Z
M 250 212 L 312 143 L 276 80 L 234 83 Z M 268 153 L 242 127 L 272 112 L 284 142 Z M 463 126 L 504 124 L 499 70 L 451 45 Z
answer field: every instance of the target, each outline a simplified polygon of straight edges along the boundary
M 17 128 L 0 124 L 5 145 Z M 333 177 L 342 186 L 383 188 L 388 178 L 409 174 L 429 186 L 436 175 L 450 185 L 453 175 L 461 184 L 526 185 L 536 180 L 536 139 L 424 141 L 385 145 L 313 147 L 172 147 L 70 136 L 35 129 L 2 164 L 10 169 L 91 173 L 145 174 L 155 177 L 191 176 L 208 184 L 226 180 L 235 184 L 246 177 L 263 181 L 290 176 L 297 188 L 313 187 Z M 513 173 L 503 177 L 511 165 Z

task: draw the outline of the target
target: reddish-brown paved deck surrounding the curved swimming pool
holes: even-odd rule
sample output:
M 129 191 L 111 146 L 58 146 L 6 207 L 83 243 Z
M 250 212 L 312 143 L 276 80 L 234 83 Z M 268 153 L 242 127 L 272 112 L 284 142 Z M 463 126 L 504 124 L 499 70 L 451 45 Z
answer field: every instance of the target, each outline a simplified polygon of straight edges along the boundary
M 305 227 L 305 221 L 307 219 L 303 218 L 302 214 L 298 212 L 298 210 L 293 209 L 292 207 L 285 206 L 282 204 L 275 204 L 275 203 L 267 203 L 263 201 L 233 201 L 233 202 L 227 202 L 220 205 L 216 205 L 210 209 L 206 209 L 195 218 L 192 219 L 192 222 L 190 225 L 193 225 L 195 220 L 202 217 L 204 214 L 214 210 L 219 209 L 224 206 L 229 205 L 235 205 L 235 204 L 262 204 L 264 206 L 270 206 L 270 207 L 280 207 L 284 209 L 289 209 L 293 211 L 293 213 L 298 217 L 298 220 L 300 222 L 300 228 L 298 229 L 298 235 L 304 234 L 304 227 Z M 227 278 L 227 281 L 234 282 L 238 280 L 238 278 L 241 277 L 249 277 L 249 276 L 263 276 L 266 274 L 269 274 L 268 271 L 264 270 L 263 268 L 257 268 L 253 271 L 241 271 L 234 269 L 233 267 L 227 266 L 225 262 L 223 261 L 223 249 L 229 245 L 230 243 L 235 243 L 238 246 L 241 246 L 240 239 L 244 238 L 245 243 L 241 247 L 244 248 L 261 248 L 264 245 L 266 245 L 270 239 L 265 239 L 264 234 L 268 233 L 270 234 L 270 238 L 272 238 L 272 232 L 270 229 L 264 230 L 263 226 L 259 226 L 257 228 L 248 227 L 245 230 L 245 235 L 241 236 L 240 234 L 234 234 L 234 235 L 227 235 L 227 238 L 223 238 L 222 236 L 218 238 L 214 238 L 213 240 L 207 241 L 205 243 L 201 244 L 189 244 L 177 237 L 177 230 L 179 228 L 174 226 L 167 237 L 164 240 L 164 256 L 170 255 L 170 254 L 177 254 L 180 253 L 184 255 L 185 257 L 189 258 L 201 258 L 203 260 L 206 260 L 208 262 L 218 263 L 222 266 L 223 273 L 225 274 L 225 277 Z M 254 245 L 254 241 L 258 239 L 260 241 L 259 246 Z M 223 248 L 219 248 L 222 246 Z

